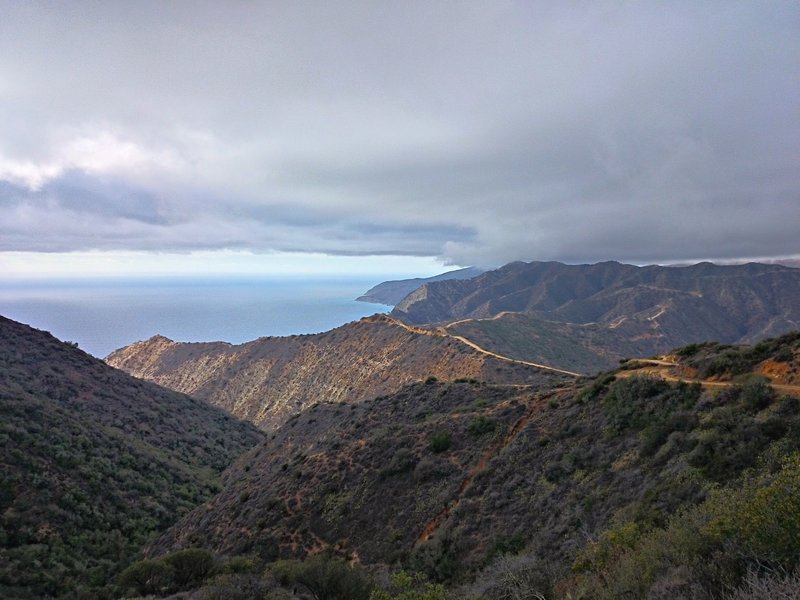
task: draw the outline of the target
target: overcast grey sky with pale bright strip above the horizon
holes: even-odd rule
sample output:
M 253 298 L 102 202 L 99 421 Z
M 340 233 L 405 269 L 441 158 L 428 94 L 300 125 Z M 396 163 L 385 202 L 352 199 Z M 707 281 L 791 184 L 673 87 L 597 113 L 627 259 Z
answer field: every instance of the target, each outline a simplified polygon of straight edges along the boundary
M 0 274 L 800 255 L 797 2 L 0 14 Z

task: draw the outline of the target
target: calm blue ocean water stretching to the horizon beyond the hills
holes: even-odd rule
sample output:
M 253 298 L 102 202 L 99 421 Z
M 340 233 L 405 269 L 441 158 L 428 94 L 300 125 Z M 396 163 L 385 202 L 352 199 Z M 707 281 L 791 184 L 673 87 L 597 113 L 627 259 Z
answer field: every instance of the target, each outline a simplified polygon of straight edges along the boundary
M 319 333 L 391 307 L 354 299 L 382 279 L 0 282 L 0 315 L 102 358 L 161 334 L 234 344 Z

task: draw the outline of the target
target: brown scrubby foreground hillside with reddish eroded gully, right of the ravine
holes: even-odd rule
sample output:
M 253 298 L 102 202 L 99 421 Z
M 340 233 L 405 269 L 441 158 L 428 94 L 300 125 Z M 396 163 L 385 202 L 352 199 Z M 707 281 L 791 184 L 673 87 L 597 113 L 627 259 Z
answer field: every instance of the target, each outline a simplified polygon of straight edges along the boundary
M 453 597 L 499 585 L 493 561 L 507 553 L 518 558 L 503 564 L 527 569 L 519 597 L 548 599 L 710 599 L 744 585 L 748 568 L 791 572 L 800 403 L 754 374 L 774 363 L 796 373 L 800 339 L 675 356 L 748 366 L 705 389 L 643 363 L 566 386 L 418 383 L 316 405 L 150 553 L 202 546 L 272 561 L 329 550 L 468 586 Z

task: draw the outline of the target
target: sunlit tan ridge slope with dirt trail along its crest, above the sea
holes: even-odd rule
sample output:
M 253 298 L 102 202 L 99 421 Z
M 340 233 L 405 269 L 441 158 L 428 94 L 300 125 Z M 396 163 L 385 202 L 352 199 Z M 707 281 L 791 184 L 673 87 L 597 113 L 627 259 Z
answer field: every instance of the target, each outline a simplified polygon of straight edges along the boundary
M 156 336 L 117 350 L 106 361 L 265 429 L 317 402 L 360 402 L 428 377 L 508 384 L 554 376 L 381 315 L 326 333 L 238 346 Z

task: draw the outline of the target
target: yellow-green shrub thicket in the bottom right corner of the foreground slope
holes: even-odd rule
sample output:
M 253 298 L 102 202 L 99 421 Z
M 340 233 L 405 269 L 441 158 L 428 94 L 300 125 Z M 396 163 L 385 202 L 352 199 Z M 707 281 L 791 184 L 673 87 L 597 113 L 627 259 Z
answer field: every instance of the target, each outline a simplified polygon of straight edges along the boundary
M 665 528 L 628 523 L 607 531 L 579 553 L 573 570 L 580 591 L 600 600 L 711 599 L 739 586 L 749 567 L 791 573 L 798 563 L 800 453 L 795 453 L 775 474 L 765 471 L 711 491 Z M 670 595 L 658 595 L 665 589 Z

